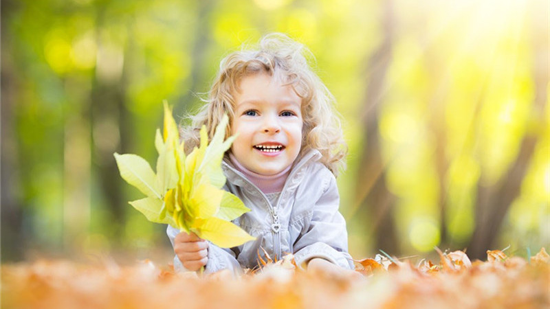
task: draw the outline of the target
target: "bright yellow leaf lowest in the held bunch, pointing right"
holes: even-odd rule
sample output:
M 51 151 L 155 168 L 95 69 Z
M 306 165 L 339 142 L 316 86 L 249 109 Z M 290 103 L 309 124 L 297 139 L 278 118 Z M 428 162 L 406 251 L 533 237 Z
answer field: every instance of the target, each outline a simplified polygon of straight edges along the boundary
M 191 230 L 220 248 L 232 248 L 256 239 L 232 222 L 215 217 L 195 220 Z

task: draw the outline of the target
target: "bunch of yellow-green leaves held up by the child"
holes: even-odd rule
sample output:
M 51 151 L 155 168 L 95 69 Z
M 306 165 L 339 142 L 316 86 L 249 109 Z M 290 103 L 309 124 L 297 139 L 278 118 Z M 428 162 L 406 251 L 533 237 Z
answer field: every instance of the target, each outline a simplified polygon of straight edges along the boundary
M 146 195 L 129 202 L 130 205 L 151 222 L 196 233 L 218 247 L 230 248 L 254 240 L 230 222 L 250 209 L 239 198 L 221 189 L 225 185 L 221 161 L 234 140 L 234 137 L 224 140 L 228 121 L 228 116 L 224 115 L 210 144 L 203 126 L 199 148 L 195 147 L 186 156 L 172 108 L 164 102 L 164 131 L 161 136 L 157 129 L 155 135 L 159 154 L 157 174 L 142 157 L 114 154 L 122 179 Z

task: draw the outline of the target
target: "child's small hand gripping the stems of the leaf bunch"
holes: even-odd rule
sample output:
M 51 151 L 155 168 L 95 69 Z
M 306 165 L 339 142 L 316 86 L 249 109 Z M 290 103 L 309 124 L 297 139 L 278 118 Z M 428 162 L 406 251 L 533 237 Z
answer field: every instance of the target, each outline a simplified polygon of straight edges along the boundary
M 208 262 L 208 243 L 192 232 L 181 232 L 176 235 L 174 252 L 189 271 L 198 271 Z

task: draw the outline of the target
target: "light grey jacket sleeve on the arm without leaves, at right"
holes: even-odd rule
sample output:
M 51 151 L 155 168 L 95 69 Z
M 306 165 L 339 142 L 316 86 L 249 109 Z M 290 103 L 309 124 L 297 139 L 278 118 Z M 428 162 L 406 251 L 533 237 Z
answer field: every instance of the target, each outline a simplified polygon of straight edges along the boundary
M 313 258 L 323 258 L 342 268 L 353 269 L 353 260 L 347 252 L 346 221 L 338 211 L 340 195 L 332 173 L 325 187 L 312 209 L 309 225 L 294 243 L 294 260 L 300 268 Z

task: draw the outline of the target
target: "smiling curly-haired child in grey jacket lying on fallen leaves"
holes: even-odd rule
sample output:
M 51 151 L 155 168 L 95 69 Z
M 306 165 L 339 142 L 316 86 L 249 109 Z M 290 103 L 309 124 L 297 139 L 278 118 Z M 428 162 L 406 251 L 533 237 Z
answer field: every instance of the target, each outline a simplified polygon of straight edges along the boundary
M 239 273 L 257 268 L 263 249 L 277 260 L 293 253 L 300 268 L 353 269 L 335 178 L 347 146 L 334 99 L 304 53 L 287 36 L 270 34 L 258 50 L 221 61 L 206 104 L 182 135 L 190 152 L 203 124 L 211 138 L 229 114 L 228 136 L 236 139 L 222 163 L 225 190 L 251 209 L 234 223 L 256 240 L 221 249 L 168 226 L 176 269 Z

